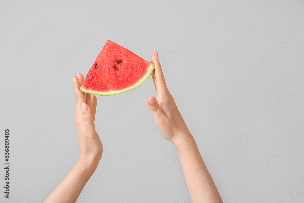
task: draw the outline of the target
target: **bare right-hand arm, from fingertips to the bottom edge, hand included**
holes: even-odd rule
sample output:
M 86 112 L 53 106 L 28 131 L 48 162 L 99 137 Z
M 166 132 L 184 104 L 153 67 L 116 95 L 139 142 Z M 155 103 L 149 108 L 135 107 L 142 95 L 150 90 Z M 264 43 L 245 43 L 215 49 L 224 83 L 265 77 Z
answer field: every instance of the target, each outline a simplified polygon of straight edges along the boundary
M 223 202 L 202 159 L 196 142 L 188 130 L 164 79 L 157 51 L 152 54 L 154 71 L 152 79 L 157 100 L 150 97 L 148 107 L 163 137 L 172 142 L 184 172 L 188 191 L 193 203 Z

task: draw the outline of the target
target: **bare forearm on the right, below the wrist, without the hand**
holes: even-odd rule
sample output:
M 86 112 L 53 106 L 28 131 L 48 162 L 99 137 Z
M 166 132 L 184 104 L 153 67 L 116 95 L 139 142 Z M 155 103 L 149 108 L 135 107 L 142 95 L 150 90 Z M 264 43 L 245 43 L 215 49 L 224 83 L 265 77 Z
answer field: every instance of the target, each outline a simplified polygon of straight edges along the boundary
M 181 162 L 192 203 L 223 202 L 190 132 L 172 141 Z

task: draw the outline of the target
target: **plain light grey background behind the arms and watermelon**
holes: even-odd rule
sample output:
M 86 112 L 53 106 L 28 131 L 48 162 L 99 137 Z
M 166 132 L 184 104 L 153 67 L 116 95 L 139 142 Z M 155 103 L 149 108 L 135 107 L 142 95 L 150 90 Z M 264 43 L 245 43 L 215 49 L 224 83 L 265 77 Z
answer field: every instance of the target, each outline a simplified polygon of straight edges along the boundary
M 174 53 L 163 66 L 168 88 L 175 100 L 187 92 L 183 100 L 178 100 L 178 108 L 224 202 L 233 202 L 230 198 L 242 189 L 246 192 L 237 202 L 279 203 L 288 195 L 292 197 L 289 202 L 303 201 L 304 188 L 295 196 L 291 190 L 304 179 L 304 86 L 299 86 L 293 94 L 288 92 L 304 77 L 303 1 L 277 0 L 279 4 L 269 12 L 270 0 L 179 0 L 171 7 L 166 5 L 169 0 L 122 0 L 107 18 L 104 13 L 118 1 L 66 2 L 20 1 L 6 14 L 3 10 L 12 1 L 0 3 L 0 155 L 3 162 L 5 128 L 10 129 L 11 150 L 10 199 L 5 199 L 2 192 L 0 202 L 24 199 L 42 202 L 76 163 L 78 140 L 72 77 L 77 72 L 84 75 L 88 72 L 108 39 L 124 47 L 134 39 L 136 43 L 130 50 L 147 61 L 154 50 L 162 61 L 170 52 Z M 205 16 L 220 3 L 223 7 L 213 11 L 216 14 L 206 22 Z M 36 36 L 34 31 L 43 26 L 45 20 L 51 22 L 50 25 Z M 152 26 L 138 39 L 136 33 L 144 29 L 146 23 Z M 236 37 L 247 26 L 253 30 L 238 42 Z M 75 49 L 73 43 L 81 39 L 83 33 L 89 37 Z M 16 49 L 31 36 L 35 40 L 18 55 Z M 176 44 L 185 36 L 191 39 L 176 52 Z M 285 39 L 292 42 L 276 55 L 275 49 L 284 44 Z M 233 42 L 237 46 L 219 61 L 218 55 Z M 73 53 L 56 68 L 54 63 L 69 49 Z M 271 54 L 275 59 L 258 74 L 257 68 Z M 190 91 L 187 86 L 197 75 L 204 79 Z M 26 98 L 24 92 L 30 91 L 34 82 L 41 85 Z M 222 104 L 228 104 L 225 100 L 236 88 L 242 89 L 242 93 L 210 123 L 207 118 Z M 174 153 L 171 143 L 162 138 L 157 128 L 142 141 L 137 137 L 149 124 L 155 125 L 146 103 L 149 96 L 156 96 L 152 79 L 130 100 L 126 99 L 128 93 L 131 92 L 97 97 L 96 131 L 104 152 L 85 186 L 90 193 L 79 202 L 131 202 L 128 196 L 138 186 L 145 189 L 133 202 L 183 202 L 181 196 L 187 193 L 187 186 L 179 160 L 176 158 L 167 168 L 159 170 L 163 161 Z M 285 94 L 288 99 L 271 112 L 270 107 Z M 24 102 L 7 116 L 6 111 L 20 98 Z M 107 114 L 121 101 L 126 105 L 108 119 Z M 48 121 L 54 125 L 42 137 L 37 136 L 37 131 L 45 128 Z M 241 144 L 239 137 L 250 127 L 257 130 Z M 38 141 L 21 156 L 19 150 L 34 137 Z M 135 140 L 140 144 L 122 159 L 120 153 Z M 288 140 L 295 144 L 280 156 L 278 150 L 286 146 Z M 240 147 L 223 162 L 221 156 L 236 143 Z M 59 169 L 57 164 L 73 150 L 77 153 Z M 278 156 L 278 161 L 261 174 L 260 169 L 274 156 Z M 98 179 L 99 173 L 106 177 L 92 190 L 89 184 Z M 29 200 L 27 194 L 40 183 L 43 187 Z M 185 202 L 190 202 L 189 198 Z

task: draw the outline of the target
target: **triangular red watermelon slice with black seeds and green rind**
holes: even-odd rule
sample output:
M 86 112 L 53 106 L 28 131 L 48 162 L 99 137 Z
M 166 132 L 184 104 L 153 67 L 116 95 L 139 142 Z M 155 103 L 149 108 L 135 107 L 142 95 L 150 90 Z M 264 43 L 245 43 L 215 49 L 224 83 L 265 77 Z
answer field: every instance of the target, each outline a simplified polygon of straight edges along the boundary
M 103 96 L 120 94 L 142 85 L 153 69 L 154 64 L 108 40 L 79 89 Z

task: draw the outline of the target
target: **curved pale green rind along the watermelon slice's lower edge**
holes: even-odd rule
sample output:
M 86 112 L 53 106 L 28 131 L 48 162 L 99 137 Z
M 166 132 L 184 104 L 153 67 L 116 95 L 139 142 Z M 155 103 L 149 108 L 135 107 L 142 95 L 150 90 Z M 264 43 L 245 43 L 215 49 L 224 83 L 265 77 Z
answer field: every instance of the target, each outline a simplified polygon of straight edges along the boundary
M 136 89 L 137 87 L 141 86 L 144 82 L 146 82 L 146 80 L 150 77 L 153 69 L 154 69 L 154 64 L 151 64 L 149 69 L 148 69 L 147 75 L 145 75 L 139 82 L 137 82 L 135 85 L 133 85 L 131 87 L 128 87 L 126 89 L 122 89 L 122 90 L 119 90 L 119 91 L 95 92 L 95 91 L 92 91 L 92 90 L 89 90 L 89 89 L 84 89 L 84 88 L 81 88 L 81 87 L 79 88 L 79 90 L 81 92 L 84 92 L 84 93 L 95 94 L 95 95 L 100 95 L 100 96 L 110 96 L 110 95 L 115 95 L 115 94 L 128 92 L 128 91 L 131 91 L 133 89 Z

